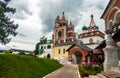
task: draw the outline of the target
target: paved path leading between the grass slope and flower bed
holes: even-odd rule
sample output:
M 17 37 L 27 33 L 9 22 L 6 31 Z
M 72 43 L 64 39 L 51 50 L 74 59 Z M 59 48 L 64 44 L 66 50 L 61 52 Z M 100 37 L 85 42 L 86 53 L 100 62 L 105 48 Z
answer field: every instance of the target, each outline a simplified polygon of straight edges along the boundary
M 77 65 L 64 65 L 64 67 L 45 78 L 79 78 Z

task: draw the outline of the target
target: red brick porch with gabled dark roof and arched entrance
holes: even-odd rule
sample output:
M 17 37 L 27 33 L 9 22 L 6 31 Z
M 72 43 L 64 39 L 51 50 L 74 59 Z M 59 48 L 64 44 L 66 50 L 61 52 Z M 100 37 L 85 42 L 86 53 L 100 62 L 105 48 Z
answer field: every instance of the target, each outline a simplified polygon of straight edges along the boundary
M 68 61 L 73 64 L 87 63 L 87 57 L 92 51 L 87 46 L 73 44 L 68 49 Z

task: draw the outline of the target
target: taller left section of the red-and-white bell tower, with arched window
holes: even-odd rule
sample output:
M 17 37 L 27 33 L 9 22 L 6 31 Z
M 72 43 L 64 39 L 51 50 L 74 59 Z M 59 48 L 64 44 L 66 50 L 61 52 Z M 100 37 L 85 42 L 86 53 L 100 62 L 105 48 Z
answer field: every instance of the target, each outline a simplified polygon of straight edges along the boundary
M 61 19 L 59 16 L 57 16 L 55 19 L 55 26 L 53 33 L 53 40 L 55 45 L 66 42 L 67 26 L 68 26 L 68 21 L 66 20 L 63 12 Z

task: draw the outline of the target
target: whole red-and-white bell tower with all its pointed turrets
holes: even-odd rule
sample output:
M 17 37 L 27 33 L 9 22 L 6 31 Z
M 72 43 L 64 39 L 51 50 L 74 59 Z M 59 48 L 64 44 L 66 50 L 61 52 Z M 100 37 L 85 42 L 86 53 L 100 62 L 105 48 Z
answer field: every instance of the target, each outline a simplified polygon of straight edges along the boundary
M 55 45 L 65 42 L 71 42 L 75 38 L 74 26 L 72 24 L 72 21 L 70 20 L 68 24 L 68 20 L 66 20 L 64 12 L 62 14 L 62 18 L 60 18 L 58 15 L 55 19 L 55 26 L 52 38 Z

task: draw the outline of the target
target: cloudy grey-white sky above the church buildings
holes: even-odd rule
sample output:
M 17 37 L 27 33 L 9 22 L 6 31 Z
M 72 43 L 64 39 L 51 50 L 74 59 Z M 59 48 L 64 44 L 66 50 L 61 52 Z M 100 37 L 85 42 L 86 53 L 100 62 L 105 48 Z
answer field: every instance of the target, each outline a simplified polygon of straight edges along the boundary
M 89 26 L 90 15 L 94 15 L 96 25 L 104 32 L 104 21 L 100 19 L 109 0 L 11 0 L 9 6 L 16 8 L 10 15 L 16 24 L 18 35 L 12 38 L 7 47 L 34 50 L 40 37 L 52 38 L 54 20 L 57 15 L 72 20 L 75 32 L 81 33 L 83 25 Z

